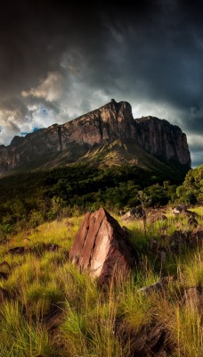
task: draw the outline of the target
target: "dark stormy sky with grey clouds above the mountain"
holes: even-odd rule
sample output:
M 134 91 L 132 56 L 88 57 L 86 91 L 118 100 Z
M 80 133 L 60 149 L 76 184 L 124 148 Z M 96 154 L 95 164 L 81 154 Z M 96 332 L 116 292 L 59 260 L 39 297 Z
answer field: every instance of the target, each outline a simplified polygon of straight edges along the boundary
M 203 163 L 202 1 L 0 4 L 0 144 L 114 98 L 178 125 Z

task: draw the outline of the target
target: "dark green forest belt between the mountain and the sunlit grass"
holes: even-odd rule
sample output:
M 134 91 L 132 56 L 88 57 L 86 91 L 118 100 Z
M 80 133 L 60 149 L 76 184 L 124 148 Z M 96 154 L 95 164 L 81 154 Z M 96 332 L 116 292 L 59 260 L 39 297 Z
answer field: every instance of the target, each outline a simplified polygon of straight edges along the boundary
M 0 179 L 0 239 L 46 220 L 106 207 L 113 212 L 140 204 L 141 190 L 150 205 L 175 202 L 180 180 L 168 173 L 123 165 L 100 169 L 86 163 L 54 170 L 13 174 Z

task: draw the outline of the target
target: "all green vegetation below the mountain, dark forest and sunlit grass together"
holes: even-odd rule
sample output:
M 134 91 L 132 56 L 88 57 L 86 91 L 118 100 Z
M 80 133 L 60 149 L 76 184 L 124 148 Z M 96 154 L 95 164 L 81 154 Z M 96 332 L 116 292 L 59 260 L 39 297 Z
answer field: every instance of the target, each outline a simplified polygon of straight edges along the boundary
M 166 357 L 203 356 L 202 312 L 183 303 L 185 289 L 203 285 L 202 247 L 175 253 L 168 242 L 176 229 L 188 229 L 184 215 L 168 210 L 165 221 L 126 224 L 140 263 L 118 286 L 102 289 L 69 262 L 86 211 L 104 206 L 119 221 L 120 209 L 138 204 L 202 202 L 203 166 L 183 182 L 169 179 L 136 166 L 85 163 L 0 179 L 0 357 L 133 357 L 141 355 L 134 351 L 144 331 L 160 328 Z M 191 210 L 203 225 L 202 206 Z M 152 237 L 164 244 L 166 259 L 150 248 Z M 15 247 L 24 253 L 9 253 Z M 164 293 L 138 292 L 171 275 Z

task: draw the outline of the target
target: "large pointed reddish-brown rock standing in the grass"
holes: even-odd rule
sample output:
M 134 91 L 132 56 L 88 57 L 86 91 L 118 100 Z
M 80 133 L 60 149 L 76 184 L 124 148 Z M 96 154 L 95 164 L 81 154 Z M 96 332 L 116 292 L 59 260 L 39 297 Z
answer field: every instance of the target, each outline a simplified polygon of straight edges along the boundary
M 101 285 L 110 278 L 123 278 L 135 262 L 128 235 L 118 221 L 104 209 L 86 213 L 69 250 L 69 258 L 82 270 L 88 270 Z

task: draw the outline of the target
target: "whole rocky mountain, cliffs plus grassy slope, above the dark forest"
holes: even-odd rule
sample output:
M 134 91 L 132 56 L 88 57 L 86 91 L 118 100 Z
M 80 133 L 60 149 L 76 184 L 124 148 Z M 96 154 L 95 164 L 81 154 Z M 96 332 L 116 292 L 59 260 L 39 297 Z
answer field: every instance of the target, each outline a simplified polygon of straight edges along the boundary
M 151 116 L 134 119 L 131 105 L 114 99 L 75 120 L 0 145 L 0 174 L 88 160 L 146 168 L 191 167 L 187 138 L 179 127 Z

